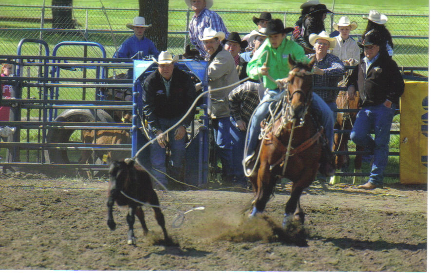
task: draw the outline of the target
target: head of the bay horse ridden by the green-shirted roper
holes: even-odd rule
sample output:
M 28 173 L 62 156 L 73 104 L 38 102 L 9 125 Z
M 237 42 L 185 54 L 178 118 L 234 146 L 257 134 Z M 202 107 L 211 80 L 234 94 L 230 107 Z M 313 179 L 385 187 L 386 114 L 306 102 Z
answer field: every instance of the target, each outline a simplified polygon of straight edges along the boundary
M 289 106 L 287 115 L 291 119 L 303 118 L 307 113 L 312 94 L 313 76 L 311 69 L 315 62 L 314 57 L 309 63 L 296 62 L 289 55 L 290 72 L 287 78 L 288 91 L 286 99 Z

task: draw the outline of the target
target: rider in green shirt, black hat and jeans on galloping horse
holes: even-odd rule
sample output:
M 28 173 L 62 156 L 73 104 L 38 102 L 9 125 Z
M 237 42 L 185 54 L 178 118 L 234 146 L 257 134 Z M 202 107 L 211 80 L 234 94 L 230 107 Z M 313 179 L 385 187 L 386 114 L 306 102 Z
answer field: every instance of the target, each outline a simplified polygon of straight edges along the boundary
M 289 74 L 288 56 L 296 61 L 305 61 L 304 50 L 300 45 L 286 38 L 286 34 L 291 32 L 293 28 L 284 28 L 281 20 L 269 20 L 266 26 L 265 35 L 268 36 L 259 50 L 254 54 L 253 58 L 247 65 L 247 74 L 251 79 L 263 79 L 263 85 L 266 88 L 265 96 L 257 107 L 254 116 L 249 125 L 249 134 L 247 137 L 246 157 L 244 158 L 244 166 L 246 174 L 250 175 L 254 166 L 254 160 L 257 158 L 255 150 L 260 134 L 260 123 L 269 112 L 269 105 L 273 101 L 281 100 L 283 92 L 278 88 L 276 79 L 283 79 L 285 82 Z M 318 107 L 320 114 L 318 120 L 325 128 L 332 129 L 327 132 L 327 140 L 332 145 L 334 134 L 334 118 L 333 112 L 329 106 L 318 95 L 313 93 L 312 106 Z M 329 133 L 329 134 L 328 134 Z M 327 144 L 329 146 L 329 144 Z M 331 147 L 329 147 L 331 148 Z M 330 150 L 323 150 L 330 154 Z M 329 152 L 328 152 L 329 151 Z M 334 173 L 333 167 L 326 167 L 326 175 Z

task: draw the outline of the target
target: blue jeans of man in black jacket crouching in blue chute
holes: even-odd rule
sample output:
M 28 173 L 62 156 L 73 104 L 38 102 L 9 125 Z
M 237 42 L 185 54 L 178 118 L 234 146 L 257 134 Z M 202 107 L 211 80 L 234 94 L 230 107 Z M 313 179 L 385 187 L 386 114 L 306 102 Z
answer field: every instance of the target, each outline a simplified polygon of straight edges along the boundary
M 162 131 L 167 130 L 173 124 L 178 122 L 180 118 L 158 118 L 160 127 Z M 169 146 L 170 146 L 170 161 L 169 164 L 173 167 L 172 173 L 174 175 L 170 175 L 176 180 L 182 181 L 182 178 L 179 178 L 182 174 L 184 168 L 184 161 L 186 157 L 186 135 L 182 139 L 175 139 L 175 131 L 181 126 L 178 125 L 173 130 L 170 130 L 168 133 L 169 136 Z M 151 130 L 150 130 L 151 131 Z M 154 134 L 150 132 L 150 137 L 154 138 Z M 156 177 L 162 184 L 165 186 L 168 184 L 168 177 L 163 175 L 160 172 L 155 171 L 154 169 L 160 170 L 166 173 L 166 165 L 165 165 L 165 157 L 166 157 L 166 149 L 160 147 L 157 141 L 154 141 L 150 144 L 150 161 L 151 167 L 150 170 L 152 175 Z

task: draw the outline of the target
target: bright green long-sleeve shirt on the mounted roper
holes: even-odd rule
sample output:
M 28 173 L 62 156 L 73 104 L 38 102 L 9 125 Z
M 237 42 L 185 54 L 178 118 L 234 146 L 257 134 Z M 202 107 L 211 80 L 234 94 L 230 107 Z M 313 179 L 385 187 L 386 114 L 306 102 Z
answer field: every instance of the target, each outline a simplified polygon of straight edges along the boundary
M 277 49 L 271 47 L 269 39 L 266 39 L 259 49 L 254 53 L 253 58 L 247 64 L 247 74 L 251 79 L 259 79 L 259 69 L 266 61 L 266 52 L 268 53 L 268 61 L 266 67 L 269 68 L 268 74 L 274 80 L 282 79 L 288 76 L 290 68 L 288 64 L 289 54 L 295 61 L 305 61 L 304 49 L 296 42 L 283 39 Z M 268 79 L 266 76 L 261 76 L 263 79 L 263 86 L 274 90 L 277 84 Z

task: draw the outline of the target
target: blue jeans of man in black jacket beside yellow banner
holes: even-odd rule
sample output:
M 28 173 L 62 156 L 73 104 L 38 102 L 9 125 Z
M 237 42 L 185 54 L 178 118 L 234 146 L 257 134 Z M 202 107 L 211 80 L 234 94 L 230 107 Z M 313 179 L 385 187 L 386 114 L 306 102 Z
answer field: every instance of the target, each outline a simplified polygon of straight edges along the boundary
M 357 145 L 374 152 L 374 162 L 369 181 L 375 185 L 383 184 L 383 171 L 388 164 L 389 138 L 395 107 L 382 104 L 363 107 L 356 116 L 350 138 Z M 370 133 L 374 130 L 375 137 Z

